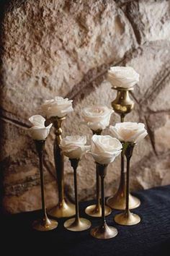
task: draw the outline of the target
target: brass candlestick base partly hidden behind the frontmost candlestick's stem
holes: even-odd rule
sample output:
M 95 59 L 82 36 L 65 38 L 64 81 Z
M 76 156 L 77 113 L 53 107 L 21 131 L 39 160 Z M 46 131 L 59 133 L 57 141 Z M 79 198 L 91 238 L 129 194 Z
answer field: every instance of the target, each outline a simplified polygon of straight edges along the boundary
M 97 205 L 89 205 L 86 208 L 85 213 L 88 216 L 95 217 L 95 218 L 102 217 L 101 205 L 99 207 Z M 105 216 L 108 216 L 110 213 L 112 213 L 112 210 L 107 205 L 105 205 L 105 209 L 104 209 Z

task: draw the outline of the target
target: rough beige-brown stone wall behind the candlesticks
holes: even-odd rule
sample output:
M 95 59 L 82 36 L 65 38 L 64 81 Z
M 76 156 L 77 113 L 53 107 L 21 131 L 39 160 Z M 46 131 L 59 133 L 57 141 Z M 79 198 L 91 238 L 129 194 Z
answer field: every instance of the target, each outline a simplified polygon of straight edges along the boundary
M 115 92 L 105 80 L 111 65 L 131 66 L 140 82 L 127 121 L 142 121 L 148 137 L 135 148 L 131 188 L 170 183 L 170 3 L 166 0 L 6 1 L 1 35 L 1 174 L 4 210 L 40 208 L 40 176 L 28 118 L 55 95 L 73 99 L 63 136 L 91 132 L 81 125 L 84 106 L 110 106 Z M 119 121 L 116 114 L 112 124 Z M 105 134 L 107 131 L 104 132 Z M 58 200 L 53 132 L 45 150 L 48 207 Z M 95 167 L 81 161 L 79 197 L 94 198 Z M 73 199 L 73 171 L 65 161 L 66 196 Z M 120 158 L 107 172 L 107 195 L 119 184 Z

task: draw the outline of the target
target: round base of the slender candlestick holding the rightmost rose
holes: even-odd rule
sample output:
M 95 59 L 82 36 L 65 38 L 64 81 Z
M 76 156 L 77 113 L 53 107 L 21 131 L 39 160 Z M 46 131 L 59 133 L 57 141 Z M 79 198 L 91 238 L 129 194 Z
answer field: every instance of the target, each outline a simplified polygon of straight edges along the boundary
M 140 216 L 135 213 L 120 213 L 115 216 L 115 222 L 122 226 L 133 226 L 140 223 Z

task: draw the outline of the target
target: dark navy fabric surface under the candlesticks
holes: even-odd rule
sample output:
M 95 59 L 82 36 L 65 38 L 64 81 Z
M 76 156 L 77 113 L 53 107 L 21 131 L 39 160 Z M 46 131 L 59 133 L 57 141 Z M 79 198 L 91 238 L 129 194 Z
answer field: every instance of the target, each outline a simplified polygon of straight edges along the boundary
M 32 221 L 40 216 L 40 211 L 36 211 L 1 216 L 1 244 L 7 242 L 9 246 L 6 249 L 12 247 L 13 252 L 22 251 L 21 245 L 24 245 L 25 252 L 37 249 L 39 253 L 47 251 L 57 256 L 170 255 L 170 186 L 135 192 L 133 195 L 140 198 L 141 205 L 132 212 L 137 213 L 142 221 L 135 226 L 120 226 L 113 221 L 120 211 L 113 210 L 107 216 L 107 223 L 118 230 L 113 239 L 95 239 L 90 236 L 89 230 L 67 231 L 63 227 L 65 220 L 58 220 L 58 228 L 53 231 L 33 231 Z M 82 217 L 89 218 L 84 208 L 91 202 L 80 203 Z M 89 220 L 93 227 L 100 223 L 98 218 Z

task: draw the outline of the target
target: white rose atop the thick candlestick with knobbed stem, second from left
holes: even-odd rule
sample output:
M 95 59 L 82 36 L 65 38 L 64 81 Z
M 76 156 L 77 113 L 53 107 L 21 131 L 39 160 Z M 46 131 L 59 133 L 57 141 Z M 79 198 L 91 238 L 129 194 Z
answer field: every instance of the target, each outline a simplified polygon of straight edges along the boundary
M 52 100 L 45 101 L 41 108 L 48 118 L 51 116 L 63 117 L 73 111 L 72 102 L 68 98 L 55 97 Z

